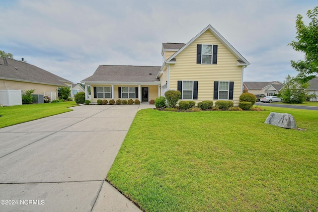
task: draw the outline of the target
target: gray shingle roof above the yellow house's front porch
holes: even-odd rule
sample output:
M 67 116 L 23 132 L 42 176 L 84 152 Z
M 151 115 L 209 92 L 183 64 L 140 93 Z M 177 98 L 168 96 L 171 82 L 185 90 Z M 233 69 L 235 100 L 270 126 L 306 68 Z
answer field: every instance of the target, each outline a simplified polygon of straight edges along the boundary
M 159 82 L 159 66 L 100 65 L 93 75 L 81 82 Z

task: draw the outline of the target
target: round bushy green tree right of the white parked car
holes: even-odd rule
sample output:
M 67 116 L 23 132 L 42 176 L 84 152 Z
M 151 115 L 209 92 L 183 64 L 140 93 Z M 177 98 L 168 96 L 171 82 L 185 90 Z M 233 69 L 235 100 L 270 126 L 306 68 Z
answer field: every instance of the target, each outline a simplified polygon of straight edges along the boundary
M 284 87 L 277 95 L 284 103 L 303 103 L 306 100 L 307 83 L 301 83 L 297 78 L 288 75 L 284 81 Z

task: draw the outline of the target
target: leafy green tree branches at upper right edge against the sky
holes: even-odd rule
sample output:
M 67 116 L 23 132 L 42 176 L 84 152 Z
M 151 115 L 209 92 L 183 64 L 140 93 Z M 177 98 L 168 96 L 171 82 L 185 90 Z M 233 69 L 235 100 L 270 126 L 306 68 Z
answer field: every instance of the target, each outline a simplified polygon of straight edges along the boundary
M 296 17 L 297 41 L 292 41 L 289 46 L 294 50 L 305 53 L 305 60 L 291 61 L 291 66 L 299 71 L 297 78 L 308 82 L 318 73 L 318 6 L 308 10 L 307 16 L 311 19 L 308 26 L 304 24 L 303 16 Z

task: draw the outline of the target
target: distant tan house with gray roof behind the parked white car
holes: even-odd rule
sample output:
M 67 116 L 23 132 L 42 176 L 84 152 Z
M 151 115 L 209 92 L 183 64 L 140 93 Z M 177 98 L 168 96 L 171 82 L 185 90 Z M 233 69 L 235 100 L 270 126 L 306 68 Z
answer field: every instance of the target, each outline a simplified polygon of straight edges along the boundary
M 277 94 L 284 84 L 279 81 L 272 82 L 243 82 L 243 90 L 252 94 L 264 94 L 265 96 L 272 96 Z

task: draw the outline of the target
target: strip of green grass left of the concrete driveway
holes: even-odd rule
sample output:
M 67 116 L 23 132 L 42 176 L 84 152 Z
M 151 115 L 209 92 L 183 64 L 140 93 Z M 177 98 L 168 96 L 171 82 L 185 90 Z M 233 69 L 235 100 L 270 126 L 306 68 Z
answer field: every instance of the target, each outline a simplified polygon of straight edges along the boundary
M 0 128 L 72 111 L 75 101 L 0 107 Z

